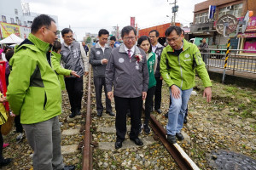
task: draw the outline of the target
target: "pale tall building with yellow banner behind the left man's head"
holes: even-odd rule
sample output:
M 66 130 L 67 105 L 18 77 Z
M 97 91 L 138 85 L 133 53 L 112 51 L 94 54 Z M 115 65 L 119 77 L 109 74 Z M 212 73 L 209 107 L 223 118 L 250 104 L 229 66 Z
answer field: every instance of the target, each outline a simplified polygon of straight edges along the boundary
M 25 39 L 31 32 L 32 21 L 38 15 L 30 12 L 29 3 L 21 3 L 20 0 L 0 1 L 0 39 L 9 37 L 12 33 Z M 49 16 L 58 26 L 58 17 Z

